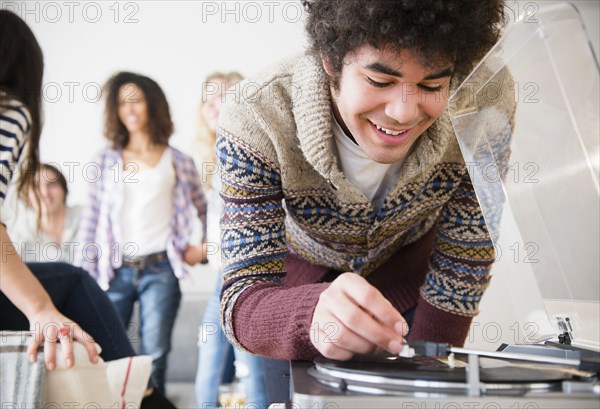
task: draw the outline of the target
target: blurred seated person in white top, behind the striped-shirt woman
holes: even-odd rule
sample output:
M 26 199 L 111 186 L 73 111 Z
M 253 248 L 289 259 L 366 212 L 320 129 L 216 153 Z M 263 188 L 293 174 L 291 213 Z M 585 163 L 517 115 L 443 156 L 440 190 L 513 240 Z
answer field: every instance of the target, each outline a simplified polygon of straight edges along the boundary
M 67 179 L 62 172 L 42 163 L 34 185 L 29 188 L 30 207 L 22 213 L 19 209 L 8 221 L 11 238 L 23 261 L 74 262 L 75 252 L 82 249 L 76 241 L 81 206 L 67 206 L 68 194 Z

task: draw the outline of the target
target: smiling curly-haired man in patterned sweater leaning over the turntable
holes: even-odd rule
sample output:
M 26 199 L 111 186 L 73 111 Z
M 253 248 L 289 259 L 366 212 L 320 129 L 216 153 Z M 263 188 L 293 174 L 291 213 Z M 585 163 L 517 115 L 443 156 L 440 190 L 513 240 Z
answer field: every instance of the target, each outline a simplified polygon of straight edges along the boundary
M 303 3 L 310 50 L 220 117 L 223 328 L 281 360 L 463 345 L 495 253 L 446 106 L 503 3 Z

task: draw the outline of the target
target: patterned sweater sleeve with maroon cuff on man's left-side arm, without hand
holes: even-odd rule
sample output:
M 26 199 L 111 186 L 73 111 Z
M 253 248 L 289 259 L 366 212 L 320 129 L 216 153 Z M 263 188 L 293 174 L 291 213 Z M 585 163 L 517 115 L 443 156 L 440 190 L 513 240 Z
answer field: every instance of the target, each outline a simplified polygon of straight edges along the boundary
M 266 147 L 265 147 L 266 149 Z M 311 358 L 308 332 L 321 292 L 284 289 L 285 212 L 281 178 L 265 152 L 219 130 L 224 283 L 221 319 L 239 347 L 273 358 Z

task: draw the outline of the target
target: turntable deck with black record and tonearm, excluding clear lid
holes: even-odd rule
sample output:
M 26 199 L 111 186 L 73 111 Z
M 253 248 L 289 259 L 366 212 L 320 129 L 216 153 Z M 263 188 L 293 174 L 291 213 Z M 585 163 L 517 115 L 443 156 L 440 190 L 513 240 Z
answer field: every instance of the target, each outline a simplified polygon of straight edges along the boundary
M 548 356 L 547 351 L 486 352 L 434 343 L 411 344 L 413 348 L 421 352 L 413 357 L 379 354 L 345 362 L 318 358 L 313 364 L 294 363 L 294 404 L 332 409 L 600 404 L 598 353 L 552 348 L 562 352 Z

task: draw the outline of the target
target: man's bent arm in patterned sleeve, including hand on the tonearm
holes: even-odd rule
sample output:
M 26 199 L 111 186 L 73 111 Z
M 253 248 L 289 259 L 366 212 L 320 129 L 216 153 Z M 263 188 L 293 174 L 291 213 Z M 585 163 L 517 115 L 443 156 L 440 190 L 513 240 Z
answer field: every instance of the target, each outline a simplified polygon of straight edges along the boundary
M 282 286 L 287 246 L 277 166 L 226 131 L 219 132 L 217 152 L 224 201 L 221 318 L 228 337 L 279 359 L 399 352 L 405 321 L 362 277 L 349 273 L 331 284 Z

